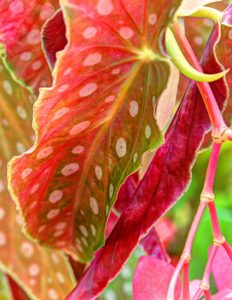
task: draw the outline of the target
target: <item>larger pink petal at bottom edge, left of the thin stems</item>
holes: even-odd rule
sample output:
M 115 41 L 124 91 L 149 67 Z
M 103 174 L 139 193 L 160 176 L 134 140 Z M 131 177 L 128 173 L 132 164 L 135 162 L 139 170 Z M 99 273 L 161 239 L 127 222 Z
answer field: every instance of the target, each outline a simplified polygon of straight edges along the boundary
M 134 300 L 164 300 L 175 268 L 153 256 L 139 259 L 133 279 Z M 180 280 L 177 284 L 175 299 L 181 292 Z

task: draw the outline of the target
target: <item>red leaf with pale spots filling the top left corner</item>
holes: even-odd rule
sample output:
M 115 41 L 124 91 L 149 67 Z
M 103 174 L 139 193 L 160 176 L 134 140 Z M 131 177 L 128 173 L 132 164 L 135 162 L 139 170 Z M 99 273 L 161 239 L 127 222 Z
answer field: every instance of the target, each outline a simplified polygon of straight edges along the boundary
M 58 0 L 1 1 L 0 43 L 6 48 L 10 68 L 36 94 L 41 86 L 51 85 L 40 31 L 58 8 Z

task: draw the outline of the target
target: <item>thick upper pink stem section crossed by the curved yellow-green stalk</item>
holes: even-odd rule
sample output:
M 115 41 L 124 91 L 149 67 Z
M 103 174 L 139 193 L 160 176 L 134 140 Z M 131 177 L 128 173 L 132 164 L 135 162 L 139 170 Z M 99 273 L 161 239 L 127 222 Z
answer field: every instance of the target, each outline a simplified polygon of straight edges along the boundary
M 182 32 L 182 29 L 180 25 L 175 22 L 173 25 L 173 33 L 175 35 L 175 38 L 184 54 L 184 56 L 187 58 L 189 63 L 198 71 L 203 72 L 202 68 L 200 66 L 200 63 L 198 62 L 198 59 L 196 55 L 193 52 L 192 47 L 190 46 L 187 38 L 185 37 L 184 33 Z M 196 82 L 199 91 L 202 95 L 202 98 L 204 100 L 206 109 L 208 111 L 208 115 L 211 121 L 211 124 L 215 131 L 221 132 L 224 128 L 226 128 L 226 124 L 223 120 L 221 111 L 218 107 L 217 101 L 214 97 L 214 94 L 210 88 L 210 85 L 206 82 Z

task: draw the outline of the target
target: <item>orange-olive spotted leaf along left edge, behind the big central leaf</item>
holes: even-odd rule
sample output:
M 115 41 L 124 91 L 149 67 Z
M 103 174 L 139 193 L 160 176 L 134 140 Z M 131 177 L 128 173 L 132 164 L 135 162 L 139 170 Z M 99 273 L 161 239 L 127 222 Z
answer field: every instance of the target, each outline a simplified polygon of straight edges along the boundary
M 8 160 L 32 144 L 33 100 L 0 60 L 0 268 L 32 299 L 63 300 L 73 286 L 66 259 L 25 237 L 22 219 L 7 190 Z M 61 229 L 63 224 L 57 226 Z

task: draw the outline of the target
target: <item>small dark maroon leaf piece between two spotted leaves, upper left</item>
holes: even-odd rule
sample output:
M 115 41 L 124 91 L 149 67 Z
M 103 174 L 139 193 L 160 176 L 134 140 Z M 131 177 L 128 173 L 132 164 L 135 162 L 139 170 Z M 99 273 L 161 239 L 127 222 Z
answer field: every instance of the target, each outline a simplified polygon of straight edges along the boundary
M 67 44 L 66 28 L 62 11 L 57 11 L 44 25 L 42 42 L 47 60 L 53 69 L 57 52 L 64 49 Z

